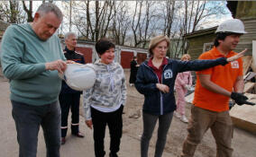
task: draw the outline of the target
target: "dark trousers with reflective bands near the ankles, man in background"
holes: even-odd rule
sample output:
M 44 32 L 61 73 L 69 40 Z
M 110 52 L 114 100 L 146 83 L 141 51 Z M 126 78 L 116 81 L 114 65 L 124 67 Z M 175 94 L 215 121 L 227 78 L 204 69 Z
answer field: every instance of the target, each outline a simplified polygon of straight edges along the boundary
M 71 109 L 71 134 L 78 134 L 79 131 L 79 104 L 80 93 L 59 94 L 61 108 L 61 137 L 65 137 L 68 131 L 69 109 Z

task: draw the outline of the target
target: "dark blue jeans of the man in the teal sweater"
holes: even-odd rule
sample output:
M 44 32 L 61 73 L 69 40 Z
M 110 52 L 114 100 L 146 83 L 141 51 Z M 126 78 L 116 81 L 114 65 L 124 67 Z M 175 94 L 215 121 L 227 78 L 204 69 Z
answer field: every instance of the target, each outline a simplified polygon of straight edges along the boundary
M 20 146 L 19 157 L 36 157 L 40 126 L 43 130 L 47 157 L 59 157 L 61 117 L 59 102 L 32 106 L 12 100 L 12 104 Z

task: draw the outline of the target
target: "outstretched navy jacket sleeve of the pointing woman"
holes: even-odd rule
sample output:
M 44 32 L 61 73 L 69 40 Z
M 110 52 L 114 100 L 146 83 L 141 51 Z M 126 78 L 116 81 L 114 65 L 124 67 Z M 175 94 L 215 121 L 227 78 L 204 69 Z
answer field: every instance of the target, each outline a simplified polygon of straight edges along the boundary
M 217 59 L 206 59 L 206 60 L 193 60 L 193 61 L 177 61 L 178 73 L 185 71 L 200 71 L 215 65 L 226 65 L 226 57 L 220 57 Z

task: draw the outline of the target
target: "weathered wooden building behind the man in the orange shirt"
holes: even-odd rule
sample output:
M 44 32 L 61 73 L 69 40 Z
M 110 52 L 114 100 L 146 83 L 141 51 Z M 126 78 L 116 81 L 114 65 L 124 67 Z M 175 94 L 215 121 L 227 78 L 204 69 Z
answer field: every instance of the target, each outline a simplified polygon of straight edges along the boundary
M 252 51 L 256 51 L 256 49 L 252 50 L 252 41 L 256 40 L 256 1 L 227 1 L 227 7 L 233 18 L 242 20 L 245 31 L 248 32 L 242 35 L 234 51 L 240 52 L 244 48 L 248 48 L 246 55 L 251 55 Z M 192 59 L 196 59 L 213 47 L 216 28 L 195 31 L 184 36 L 189 45 L 188 54 L 191 55 Z

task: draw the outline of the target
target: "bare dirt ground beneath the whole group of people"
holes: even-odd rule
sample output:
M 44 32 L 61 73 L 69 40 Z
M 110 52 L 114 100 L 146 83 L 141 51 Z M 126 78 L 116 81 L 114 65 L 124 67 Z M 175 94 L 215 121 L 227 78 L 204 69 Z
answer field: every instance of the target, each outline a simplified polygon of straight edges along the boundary
M 129 72 L 125 72 L 126 80 L 129 80 Z M 134 86 L 127 83 L 127 101 L 123 114 L 123 137 L 121 143 L 121 157 L 137 157 L 140 156 L 140 138 L 142 135 L 142 103 L 143 96 L 136 91 Z M 18 156 L 18 145 L 15 137 L 14 121 L 11 116 L 11 104 L 9 101 L 8 82 L 0 79 L 0 156 L 14 157 Z M 186 115 L 190 116 L 190 105 L 187 104 Z M 83 109 L 80 109 L 80 115 L 83 116 Z M 69 119 L 70 120 L 70 119 Z M 151 138 L 151 146 L 149 157 L 153 156 L 154 145 L 156 143 L 157 127 Z M 92 157 L 93 155 L 93 138 L 90 131 L 84 124 L 84 119 L 80 118 L 80 131 L 86 133 L 85 139 L 74 138 L 68 135 L 67 144 L 61 146 L 62 157 Z M 69 133 L 68 133 L 69 134 Z M 187 136 L 187 124 L 181 122 L 178 118 L 173 118 L 169 128 L 168 140 L 163 153 L 163 157 L 178 157 L 181 153 L 182 143 Z M 108 147 L 109 136 L 106 133 L 105 147 Z M 76 146 L 75 146 L 76 145 Z M 252 135 L 239 128 L 234 128 L 233 133 L 233 157 L 256 157 L 256 135 Z M 210 131 L 206 132 L 201 144 L 197 147 L 195 157 L 215 157 L 215 139 Z M 71 155 L 72 154 L 72 155 Z M 38 156 L 45 156 L 45 146 L 43 136 L 40 132 Z

